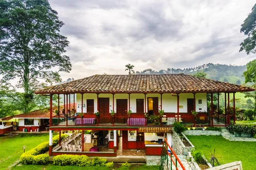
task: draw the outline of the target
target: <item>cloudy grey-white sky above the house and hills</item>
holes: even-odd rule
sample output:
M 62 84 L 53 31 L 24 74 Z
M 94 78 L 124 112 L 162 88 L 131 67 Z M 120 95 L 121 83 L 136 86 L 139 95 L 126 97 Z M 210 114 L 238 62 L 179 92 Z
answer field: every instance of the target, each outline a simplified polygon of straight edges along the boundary
M 240 27 L 255 0 L 49 0 L 72 62 L 63 79 L 205 63 L 244 65 Z

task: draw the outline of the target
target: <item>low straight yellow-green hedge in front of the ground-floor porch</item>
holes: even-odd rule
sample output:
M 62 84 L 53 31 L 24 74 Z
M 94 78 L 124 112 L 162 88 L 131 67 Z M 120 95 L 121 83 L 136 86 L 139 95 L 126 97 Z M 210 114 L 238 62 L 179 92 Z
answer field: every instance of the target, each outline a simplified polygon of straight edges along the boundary
M 79 167 L 85 166 L 106 166 L 106 159 L 94 157 L 93 160 L 89 160 L 85 155 L 58 155 L 53 158 L 54 165 L 66 166 L 73 165 Z

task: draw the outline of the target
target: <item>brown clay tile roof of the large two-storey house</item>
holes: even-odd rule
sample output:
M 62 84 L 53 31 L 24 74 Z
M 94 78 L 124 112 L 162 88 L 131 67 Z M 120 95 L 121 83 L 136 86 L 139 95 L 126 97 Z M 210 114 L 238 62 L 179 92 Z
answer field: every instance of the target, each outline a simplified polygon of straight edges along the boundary
M 54 85 L 35 94 L 61 93 L 186 93 L 186 92 L 236 92 L 254 91 L 244 85 L 234 85 L 187 74 L 150 75 L 94 75 L 61 85 Z

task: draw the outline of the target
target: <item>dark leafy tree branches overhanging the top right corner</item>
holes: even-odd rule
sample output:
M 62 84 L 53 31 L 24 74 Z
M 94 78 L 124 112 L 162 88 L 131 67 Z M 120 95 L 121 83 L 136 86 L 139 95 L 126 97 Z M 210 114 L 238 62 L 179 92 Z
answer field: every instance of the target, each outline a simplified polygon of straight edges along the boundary
M 247 54 L 256 53 L 256 4 L 253 6 L 251 13 L 244 20 L 244 23 L 241 25 L 240 32 L 243 32 L 244 35 L 248 37 L 241 42 L 240 50 L 245 50 Z

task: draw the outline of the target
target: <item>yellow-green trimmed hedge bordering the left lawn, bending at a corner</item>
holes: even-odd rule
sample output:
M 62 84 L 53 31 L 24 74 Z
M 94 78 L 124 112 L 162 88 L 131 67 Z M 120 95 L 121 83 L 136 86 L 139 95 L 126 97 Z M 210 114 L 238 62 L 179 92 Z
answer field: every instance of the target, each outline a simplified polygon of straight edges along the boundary
M 66 138 L 68 135 L 61 134 L 61 140 Z M 59 136 L 56 135 L 52 138 L 52 147 L 58 144 Z M 49 155 L 43 154 L 49 150 L 49 142 L 43 142 L 38 144 L 33 149 L 23 153 L 20 156 L 20 161 L 23 164 L 46 164 L 49 161 Z

